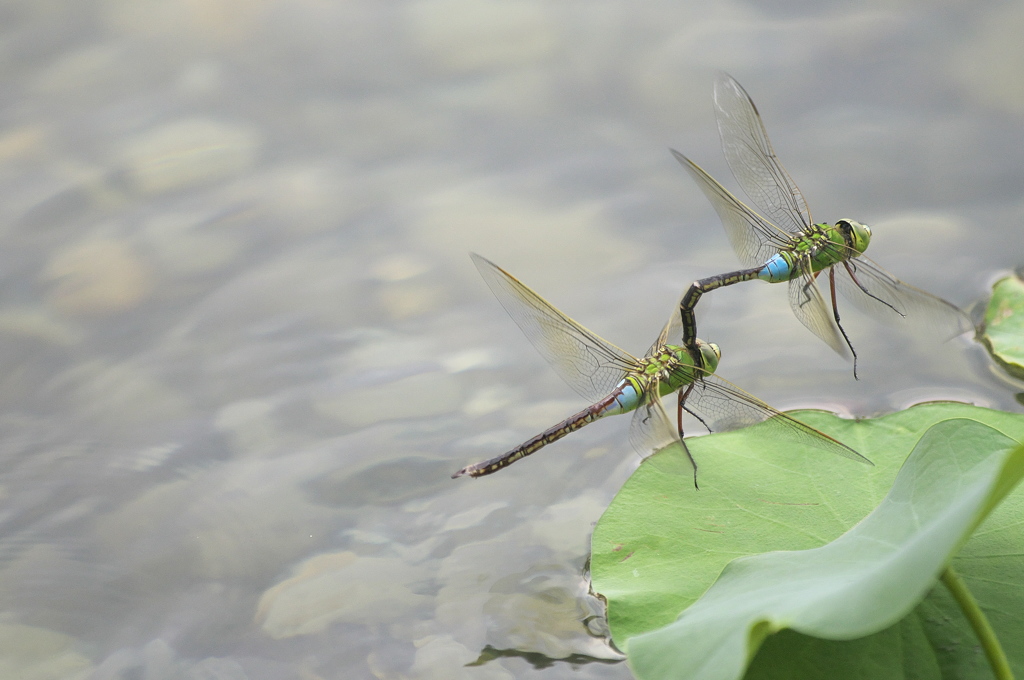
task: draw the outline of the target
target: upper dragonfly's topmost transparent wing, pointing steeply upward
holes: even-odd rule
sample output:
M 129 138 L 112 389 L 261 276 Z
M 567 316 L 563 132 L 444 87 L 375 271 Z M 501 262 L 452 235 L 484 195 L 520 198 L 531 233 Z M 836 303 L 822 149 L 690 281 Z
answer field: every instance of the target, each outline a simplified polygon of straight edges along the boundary
M 807 202 L 775 156 L 758 108 L 728 74 L 715 81 L 715 113 L 725 160 L 754 205 L 786 231 L 809 227 Z

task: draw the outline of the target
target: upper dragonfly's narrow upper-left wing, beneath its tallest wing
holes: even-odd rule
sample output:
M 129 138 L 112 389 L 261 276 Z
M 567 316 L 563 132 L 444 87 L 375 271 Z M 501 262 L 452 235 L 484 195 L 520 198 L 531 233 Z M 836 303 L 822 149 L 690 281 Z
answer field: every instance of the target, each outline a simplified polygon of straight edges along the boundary
M 743 266 L 764 264 L 772 255 L 788 247 L 790 235 L 786 231 L 744 206 L 696 163 L 675 150 L 670 151 L 715 207 L 729 243 Z

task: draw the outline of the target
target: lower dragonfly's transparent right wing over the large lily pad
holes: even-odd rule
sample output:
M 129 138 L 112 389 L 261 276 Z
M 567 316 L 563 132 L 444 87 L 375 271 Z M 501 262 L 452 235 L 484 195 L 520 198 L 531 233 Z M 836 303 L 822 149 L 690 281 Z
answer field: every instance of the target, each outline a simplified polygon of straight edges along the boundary
M 703 418 L 715 430 L 728 431 L 764 422 L 771 438 L 800 441 L 851 460 L 871 462 L 824 432 L 773 409 L 728 380 L 709 375 L 694 383 L 686 408 Z

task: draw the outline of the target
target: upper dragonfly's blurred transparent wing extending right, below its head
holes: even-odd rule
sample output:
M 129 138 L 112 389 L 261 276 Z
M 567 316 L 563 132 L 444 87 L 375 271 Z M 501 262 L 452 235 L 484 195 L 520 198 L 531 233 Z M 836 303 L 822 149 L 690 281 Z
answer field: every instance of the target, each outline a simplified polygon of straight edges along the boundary
M 866 257 L 834 265 L 833 270 L 836 287 L 843 297 L 878 321 L 891 324 L 905 318 L 943 340 L 974 330 L 971 317 L 963 309 L 904 284 Z

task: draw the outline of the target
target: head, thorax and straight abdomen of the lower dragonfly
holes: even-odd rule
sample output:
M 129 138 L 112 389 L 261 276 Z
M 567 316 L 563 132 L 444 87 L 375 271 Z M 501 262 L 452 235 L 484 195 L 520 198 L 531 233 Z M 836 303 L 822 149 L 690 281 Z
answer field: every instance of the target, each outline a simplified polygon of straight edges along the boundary
M 721 357 L 718 346 L 702 340 L 697 340 L 696 344 L 706 370 L 714 372 Z M 643 403 L 645 395 L 654 389 L 659 397 L 667 396 L 691 384 L 698 378 L 698 374 L 703 375 L 703 372 L 694 371 L 693 358 L 689 352 L 677 345 L 665 345 L 655 356 L 646 356 L 639 364 L 635 375 L 624 378 L 610 394 L 596 403 L 530 437 L 515 449 L 490 460 L 464 467 L 452 476 L 468 474 L 479 477 L 497 472 L 595 420 L 636 411 Z

